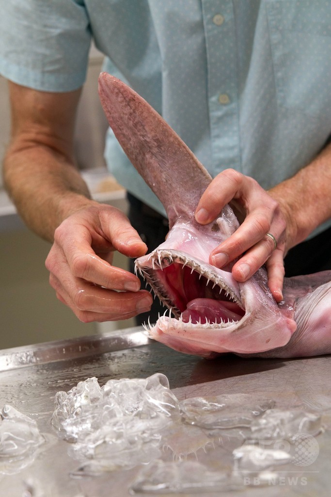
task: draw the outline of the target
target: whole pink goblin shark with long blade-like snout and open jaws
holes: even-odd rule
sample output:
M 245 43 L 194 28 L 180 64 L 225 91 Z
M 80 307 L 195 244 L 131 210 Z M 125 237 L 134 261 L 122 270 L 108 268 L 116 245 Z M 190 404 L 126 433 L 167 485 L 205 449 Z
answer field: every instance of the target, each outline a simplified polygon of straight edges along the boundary
M 277 304 L 264 268 L 238 283 L 231 265 L 209 264 L 211 250 L 239 226 L 232 208 L 226 205 L 216 221 L 198 224 L 194 213 L 211 181 L 207 170 L 125 83 L 102 73 L 99 95 L 115 136 L 169 219 L 166 241 L 135 263 L 169 309 L 148 326 L 150 336 L 208 358 L 225 352 L 280 358 L 330 353 L 331 271 L 285 278 L 284 300 Z

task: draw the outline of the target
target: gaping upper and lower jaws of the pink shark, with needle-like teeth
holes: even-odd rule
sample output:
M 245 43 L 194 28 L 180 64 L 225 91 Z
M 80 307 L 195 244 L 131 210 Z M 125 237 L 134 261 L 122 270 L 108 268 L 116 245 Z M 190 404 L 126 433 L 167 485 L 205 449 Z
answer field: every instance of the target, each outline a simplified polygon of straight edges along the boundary
M 233 351 L 229 337 L 233 343 L 236 330 L 245 329 L 252 313 L 245 309 L 246 292 L 240 292 L 231 273 L 170 248 L 157 248 L 140 257 L 135 269 L 167 307 L 155 324 L 144 325 L 151 338 L 206 358 Z M 215 339 L 218 343 L 210 347 L 210 340 Z M 238 344 L 238 352 L 242 348 L 246 351 L 246 346 Z

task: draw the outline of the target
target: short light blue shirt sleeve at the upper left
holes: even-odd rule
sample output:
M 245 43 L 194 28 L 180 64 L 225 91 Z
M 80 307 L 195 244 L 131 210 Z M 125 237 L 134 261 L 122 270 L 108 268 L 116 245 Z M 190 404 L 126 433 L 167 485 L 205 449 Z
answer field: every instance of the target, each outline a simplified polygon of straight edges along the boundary
M 1 2 L 0 74 L 44 91 L 85 81 L 91 32 L 83 0 Z

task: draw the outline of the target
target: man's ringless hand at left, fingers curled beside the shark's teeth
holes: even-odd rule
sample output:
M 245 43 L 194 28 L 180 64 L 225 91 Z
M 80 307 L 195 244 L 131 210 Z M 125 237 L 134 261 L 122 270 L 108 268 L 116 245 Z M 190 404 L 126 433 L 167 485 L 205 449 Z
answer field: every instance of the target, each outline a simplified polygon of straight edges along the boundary
M 55 231 L 46 259 L 58 299 L 84 323 L 128 319 L 150 310 L 152 297 L 132 273 L 111 265 L 114 249 L 129 257 L 147 247 L 115 207 L 91 205 Z

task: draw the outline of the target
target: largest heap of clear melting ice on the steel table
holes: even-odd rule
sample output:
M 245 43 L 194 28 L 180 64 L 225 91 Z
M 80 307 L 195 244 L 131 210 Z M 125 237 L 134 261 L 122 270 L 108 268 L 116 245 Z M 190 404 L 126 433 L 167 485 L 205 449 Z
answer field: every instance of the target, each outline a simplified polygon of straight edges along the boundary
M 132 467 L 157 458 L 162 431 L 180 416 L 178 400 L 162 374 L 109 380 L 102 388 L 89 378 L 68 393 L 58 392 L 55 404 L 53 426 L 75 442 L 71 455 L 98 461 L 90 470 Z

